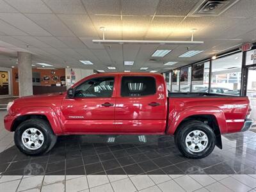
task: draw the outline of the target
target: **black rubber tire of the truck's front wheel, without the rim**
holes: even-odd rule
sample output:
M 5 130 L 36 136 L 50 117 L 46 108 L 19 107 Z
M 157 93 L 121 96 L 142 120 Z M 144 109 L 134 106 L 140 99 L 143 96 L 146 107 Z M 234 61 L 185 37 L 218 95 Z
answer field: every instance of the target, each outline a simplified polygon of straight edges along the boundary
M 44 142 L 42 146 L 37 149 L 29 149 L 22 142 L 22 134 L 29 128 L 36 128 L 42 132 L 44 136 Z M 49 152 L 52 147 L 54 147 L 57 140 L 57 136 L 51 129 L 51 125 L 43 119 L 40 118 L 31 118 L 22 122 L 14 133 L 14 142 L 15 145 L 19 148 L 20 152 L 27 154 L 29 156 L 37 156 Z

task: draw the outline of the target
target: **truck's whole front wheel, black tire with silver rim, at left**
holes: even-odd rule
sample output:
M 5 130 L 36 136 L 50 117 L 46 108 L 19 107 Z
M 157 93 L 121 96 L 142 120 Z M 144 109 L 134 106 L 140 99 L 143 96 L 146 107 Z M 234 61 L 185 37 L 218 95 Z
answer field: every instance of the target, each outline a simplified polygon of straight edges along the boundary
M 40 118 L 22 122 L 14 134 L 15 145 L 21 152 L 30 156 L 44 154 L 55 145 L 57 136 L 49 123 Z

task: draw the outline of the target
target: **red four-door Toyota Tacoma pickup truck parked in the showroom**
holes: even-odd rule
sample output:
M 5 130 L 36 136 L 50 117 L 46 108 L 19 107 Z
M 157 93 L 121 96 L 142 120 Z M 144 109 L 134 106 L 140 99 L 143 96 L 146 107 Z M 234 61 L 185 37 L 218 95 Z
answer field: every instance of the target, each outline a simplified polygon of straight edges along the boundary
M 184 156 L 202 158 L 222 148 L 221 134 L 250 129 L 250 111 L 247 97 L 168 93 L 161 74 L 103 73 L 67 93 L 10 102 L 4 125 L 28 155 L 48 152 L 65 134 L 168 134 Z

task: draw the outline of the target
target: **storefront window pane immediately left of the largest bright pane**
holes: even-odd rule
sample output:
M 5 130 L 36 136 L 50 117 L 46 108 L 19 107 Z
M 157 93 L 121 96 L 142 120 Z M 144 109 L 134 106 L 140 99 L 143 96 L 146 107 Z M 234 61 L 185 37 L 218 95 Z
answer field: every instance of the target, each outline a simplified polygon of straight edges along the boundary
M 192 92 L 208 92 L 210 62 L 192 66 Z

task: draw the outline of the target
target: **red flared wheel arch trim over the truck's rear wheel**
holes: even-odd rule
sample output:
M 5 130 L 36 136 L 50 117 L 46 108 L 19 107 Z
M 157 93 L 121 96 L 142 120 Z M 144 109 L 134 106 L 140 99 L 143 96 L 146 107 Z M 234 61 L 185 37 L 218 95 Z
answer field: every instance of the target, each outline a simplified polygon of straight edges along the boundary
M 227 123 L 224 112 L 215 106 L 196 106 L 184 109 L 183 111 L 175 111 L 170 113 L 168 119 L 167 134 L 174 134 L 182 120 L 193 115 L 214 115 L 220 129 L 220 133 L 227 132 Z

